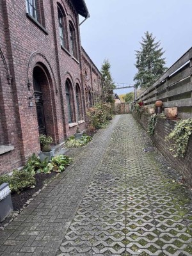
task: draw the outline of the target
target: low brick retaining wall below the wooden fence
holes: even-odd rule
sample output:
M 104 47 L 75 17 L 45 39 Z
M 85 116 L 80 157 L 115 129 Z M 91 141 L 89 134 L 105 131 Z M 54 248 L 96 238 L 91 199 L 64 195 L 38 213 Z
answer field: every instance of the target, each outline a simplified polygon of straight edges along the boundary
M 149 115 L 142 114 L 140 118 L 140 115 L 134 112 L 133 116 L 147 131 Z M 163 153 L 164 157 L 170 161 L 173 168 L 179 170 L 184 179 L 186 179 L 186 182 L 192 186 L 192 137 L 189 140 L 185 157 L 174 157 L 173 153 L 169 150 L 171 147 L 170 141 L 164 140 L 164 138 L 173 131 L 176 122 L 177 121 L 174 120 L 158 118 L 154 135 L 151 136 L 151 138 L 156 147 Z

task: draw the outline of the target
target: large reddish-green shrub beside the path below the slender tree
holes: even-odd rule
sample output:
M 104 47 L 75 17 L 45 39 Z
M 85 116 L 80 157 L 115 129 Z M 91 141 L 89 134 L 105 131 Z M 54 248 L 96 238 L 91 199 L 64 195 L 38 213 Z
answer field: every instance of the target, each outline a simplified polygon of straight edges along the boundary
M 97 103 L 93 108 L 88 109 L 88 129 L 100 129 L 112 119 L 113 105 L 110 103 Z

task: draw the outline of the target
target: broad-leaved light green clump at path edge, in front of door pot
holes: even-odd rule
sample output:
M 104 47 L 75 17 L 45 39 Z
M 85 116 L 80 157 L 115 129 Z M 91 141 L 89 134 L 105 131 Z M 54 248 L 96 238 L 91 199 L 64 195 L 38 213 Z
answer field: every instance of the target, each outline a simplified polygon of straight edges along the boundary
M 63 172 L 65 167 L 68 166 L 72 161 L 72 158 L 64 155 L 52 157 L 52 166 L 54 172 Z

